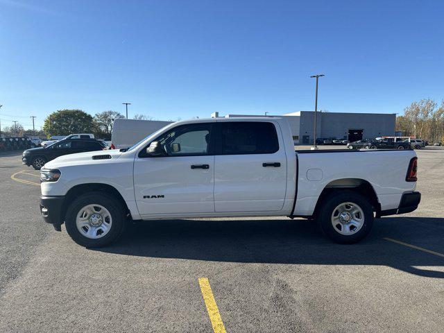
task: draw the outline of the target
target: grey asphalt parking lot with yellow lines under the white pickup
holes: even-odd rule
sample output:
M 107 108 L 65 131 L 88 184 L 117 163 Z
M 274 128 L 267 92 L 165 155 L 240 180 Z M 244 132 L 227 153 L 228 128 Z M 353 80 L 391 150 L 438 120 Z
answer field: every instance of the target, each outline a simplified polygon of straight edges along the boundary
M 282 217 L 137 223 L 89 250 L 2 153 L 0 332 L 442 332 L 444 149 L 417 154 L 420 207 L 360 244 Z

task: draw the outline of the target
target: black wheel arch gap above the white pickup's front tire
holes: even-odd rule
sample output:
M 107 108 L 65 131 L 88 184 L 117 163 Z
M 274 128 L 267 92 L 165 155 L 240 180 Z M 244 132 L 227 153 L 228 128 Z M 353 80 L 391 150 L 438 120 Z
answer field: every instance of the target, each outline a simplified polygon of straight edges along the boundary
M 113 187 L 112 185 L 103 184 L 99 182 L 92 182 L 86 184 L 78 184 L 74 187 L 71 187 L 71 189 L 67 191 L 67 194 L 65 195 L 65 202 L 62 205 L 62 212 L 61 212 L 62 221 L 65 221 L 65 215 L 69 203 L 71 203 L 72 200 L 74 200 L 74 198 L 90 192 L 103 192 L 105 194 L 114 196 L 114 198 L 117 198 L 117 200 L 121 201 L 125 213 L 130 214 L 130 210 L 128 208 L 128 205 L 126 204 L 125 199 L 123 199 L 123 196 L 115 187 Z

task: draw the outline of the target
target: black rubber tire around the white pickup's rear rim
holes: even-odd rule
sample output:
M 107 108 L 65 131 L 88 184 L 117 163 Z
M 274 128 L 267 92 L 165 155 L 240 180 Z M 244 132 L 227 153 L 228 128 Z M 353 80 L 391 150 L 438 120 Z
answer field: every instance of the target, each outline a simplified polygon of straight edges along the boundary
M 334 210 L 341 203 L 355 203 L 364 212 L 364 223 L 354 234 L 344 235 L 336 231 L 332 224 Z M 339 244 L 353 244 L 367 236 L 373 226 L 373 207 L 368 200 L 355 191 L 335 191 L 323 200 L 318 212 L 318 224 L 324 234 Z

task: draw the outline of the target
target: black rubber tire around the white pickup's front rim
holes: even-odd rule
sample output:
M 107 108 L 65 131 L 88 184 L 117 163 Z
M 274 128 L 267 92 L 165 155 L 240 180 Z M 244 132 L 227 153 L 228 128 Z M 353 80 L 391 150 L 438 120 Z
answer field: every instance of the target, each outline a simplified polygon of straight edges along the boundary
M 108 234 L 105 234 L 99 239 L 90 239 L 79 232 L 76 225 L 76 217 L 78 212 L 86 205 L 101 205 L 105 207 L 111 214 L 112 224 Z M 69 236 L 81 246 L 87 248 L 100 248 L 108 246 L 114 241 L 117 241 L 123 233 L 126 226 L 126 216 L 123 208 L 123 203 L 114 196 L 105 194 L 103 192 L 90 192 L 78 196 L 68 207 L 65 216 L 65 226 Z

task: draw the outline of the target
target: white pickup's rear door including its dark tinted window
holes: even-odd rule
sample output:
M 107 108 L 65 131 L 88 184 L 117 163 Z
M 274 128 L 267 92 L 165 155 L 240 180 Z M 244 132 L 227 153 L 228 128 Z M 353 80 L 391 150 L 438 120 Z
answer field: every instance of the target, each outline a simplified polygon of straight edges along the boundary
M 216 212 L 282 210 L 287 157 L 277 126 L 273 121 L 216 123 Z

